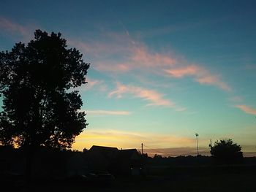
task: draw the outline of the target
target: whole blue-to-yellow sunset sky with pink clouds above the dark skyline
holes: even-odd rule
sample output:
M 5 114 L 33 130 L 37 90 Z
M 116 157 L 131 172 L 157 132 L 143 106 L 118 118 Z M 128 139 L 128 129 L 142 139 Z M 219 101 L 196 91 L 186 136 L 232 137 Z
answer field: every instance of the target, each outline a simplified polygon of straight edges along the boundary
M 145 146 L 208 153 L 233 139 L 256 153 L 256 1 L 1 0 L 0 50 L 61 32 L 90 63 L 89 126 L 73 149 Z

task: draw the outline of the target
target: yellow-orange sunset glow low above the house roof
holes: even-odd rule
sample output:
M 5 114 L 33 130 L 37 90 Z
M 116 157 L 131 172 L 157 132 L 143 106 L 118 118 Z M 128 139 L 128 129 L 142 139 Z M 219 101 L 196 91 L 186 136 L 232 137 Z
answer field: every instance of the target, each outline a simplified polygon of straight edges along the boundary
M 75 150 L 89 149 L 92 145 L 118 148 L 140 148 L 145 143 L 151 148 L 193 146 L 194 139 L 177 137 L 166 134 L 145 134 L 139 132 L 125 132 L 115 130 L 85 131 L 80 134 L 73 144 Z

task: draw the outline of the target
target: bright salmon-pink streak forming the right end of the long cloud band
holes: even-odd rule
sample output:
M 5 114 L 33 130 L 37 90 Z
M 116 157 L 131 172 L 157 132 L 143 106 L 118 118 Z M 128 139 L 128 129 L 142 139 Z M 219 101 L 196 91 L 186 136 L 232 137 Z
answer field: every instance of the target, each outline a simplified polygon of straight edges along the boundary
M 192 76 L 195 81 L 200 84 L 214 85 L 224 91 L 232 90 L 226 82 L 220 79 L 219 75 L 212 74 L 202 66 L 197 66 L 195 64 L 184 67 L 173 67 L 173 69 L 166 69 L 165 72 L 170 75 L 170 77 L 181 78 L 185 76 Z

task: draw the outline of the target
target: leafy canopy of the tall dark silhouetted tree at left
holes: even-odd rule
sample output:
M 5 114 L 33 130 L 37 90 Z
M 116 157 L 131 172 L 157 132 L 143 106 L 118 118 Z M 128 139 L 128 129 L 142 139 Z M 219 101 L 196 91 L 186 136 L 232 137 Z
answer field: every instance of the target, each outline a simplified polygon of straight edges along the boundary
M 0 53 L 0 144 L 69 148 L 86 128 L 76 88 L 89 64 L 61 34 L 35 31 L 28 45 Z

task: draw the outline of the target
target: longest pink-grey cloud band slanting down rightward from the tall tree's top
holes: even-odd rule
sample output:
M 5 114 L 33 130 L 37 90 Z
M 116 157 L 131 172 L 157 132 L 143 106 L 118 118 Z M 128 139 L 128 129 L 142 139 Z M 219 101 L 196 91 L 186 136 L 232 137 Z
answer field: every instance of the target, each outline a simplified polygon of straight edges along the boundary
M 191 76 L 202 85 L 214 85 L 224 91 L 231 91 L 229 85 L 221 80 L 217 74 L 196 64 L 187 64 L 187 61 L 177 59 L 170 53 L 157 53 L 148 50 L 140 41 L 135 41 L 129 33 L 116 34 L 105 31 L 104 41 L 80 42 L 72 44 L 94 56 L 94 65 L 91 66 L 100 72 L 127 73 L 133 70 L 164 76 L 181 78 Z M 181 66 L 184 64 L 185 66 Z

